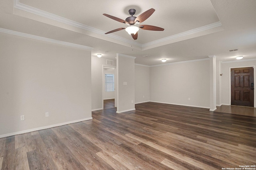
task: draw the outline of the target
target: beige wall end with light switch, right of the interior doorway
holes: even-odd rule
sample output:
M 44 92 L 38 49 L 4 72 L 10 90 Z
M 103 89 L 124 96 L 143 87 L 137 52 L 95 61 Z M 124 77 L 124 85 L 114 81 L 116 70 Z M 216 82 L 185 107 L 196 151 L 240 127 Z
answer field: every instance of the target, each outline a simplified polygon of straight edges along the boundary
M 117 113 L 135 110 L 134 59 L 126 55 L 116 55 Z M 124 82 L 127 84 L 124 85 Z

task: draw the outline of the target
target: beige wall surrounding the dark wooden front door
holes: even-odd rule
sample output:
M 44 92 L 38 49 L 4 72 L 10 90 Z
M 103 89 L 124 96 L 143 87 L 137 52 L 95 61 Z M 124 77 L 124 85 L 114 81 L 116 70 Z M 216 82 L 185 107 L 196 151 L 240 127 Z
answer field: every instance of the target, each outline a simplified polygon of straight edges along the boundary
M 235 61 L 232 63 L 222 62 L 220 64 L 220 104 L 230 105 L 230 68 L 246 66 L 256 66 L 256 60 L 252 61 Z M 254 68 L 255 69 L 255 68 Z M 255 75 L 254 75 L 255 77 Z M 255 84 L 254 78 L 254 84 Z M 256 89 L 256 88 L 255 88 Z M 255 96 L 255 92 L 254 92 Z

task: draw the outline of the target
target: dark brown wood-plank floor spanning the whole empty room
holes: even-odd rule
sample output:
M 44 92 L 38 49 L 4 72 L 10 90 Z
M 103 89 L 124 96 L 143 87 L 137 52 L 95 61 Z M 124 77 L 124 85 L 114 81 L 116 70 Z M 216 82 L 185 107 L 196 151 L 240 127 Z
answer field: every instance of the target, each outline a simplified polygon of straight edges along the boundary
M 256 165 L 256 117 L 147 102 L 135 111 L 0 139 L 14 169 L 221 170 Z

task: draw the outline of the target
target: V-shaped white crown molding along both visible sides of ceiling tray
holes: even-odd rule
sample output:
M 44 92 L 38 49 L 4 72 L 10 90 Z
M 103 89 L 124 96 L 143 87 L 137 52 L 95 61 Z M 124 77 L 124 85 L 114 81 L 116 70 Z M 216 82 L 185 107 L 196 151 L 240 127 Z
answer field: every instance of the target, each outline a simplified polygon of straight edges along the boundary
M 32 13 L 32 14 L 36 14 L 38 16 L 49 18 L 51 20 L 62 22 L 62 23 L 65 23 L 65 24 L 68 24 L 68 25 L 71 25 L 71 26 L 74 26 L 74 27 L 78 27 L 78 28 L 84 29 L 86 31 L 91 31 L 93 33 L 97 33 L 97 34 L 103 35 L 105 37 L 110 37 L 112 39 L 116 39 L 116 40 L 122 41 L 124 43 L 129 43 L 129 44 L 132 44 L 132 45 L 136 45 L 139 48 L 141 48 L 141 50 L 154 48 L 154 45 L 158 45 L 159 43 L 166 43 L 166 44 L 174 43 L 174 42 L 168 42 L 168 41 L 172 41 L 174 39 L 178 39 L 178 38 L 185 37 L 185 36 L 188 36 L 188 35 L 191 35 L 191 34 L 194 34 L 194 33 L 199 33 L 199 32 L 202 32 L 202 31 L 206 31 L 208 29 L 212 29 L 212 28 L 215 28 L 215 27 L 222 26 L 222 24 L 219 21 L 219 22 L 212 23 L 212 24 L 209 24 L 209 25 L 205 25 L 205 26 L 195 28 L 195 29 L 192 29 L 192 30 L 189 30 L 189 31 L 185 31 L 183 33 L 178 33 L 176 35 L 171 35 L 169 37 L 158 39 L 156 41 L 151 41 L 151 42 L 148 42 L 148 43 L 141 44 L 141 43 L 137 43 L 135 41 L 129 40 L 129 39 L 122 38 L 122 37 L 114 35 L 114 34 L 105 34 L 105 31 L 102 31 L 100 29 L 96 29 L 94 27 L 90 27 L 88 25 L 84 25 L 82 23 L 78 23 L 76 21 L 72 21 L 72 20 L 57 16 L 55 14 L 51 14 L 51 13 L 43 11 L 43 10 L 39 10 L 39 9 L 34 8 L 32 6 L 22 4 L 22 3 L 20 3 L 20 0 L 14 0 L 14 8 L 19 9 L 19 10 L 23 10 L 23 11 L 26 11 L 26 12 L 29 12 L 29 13 Z

